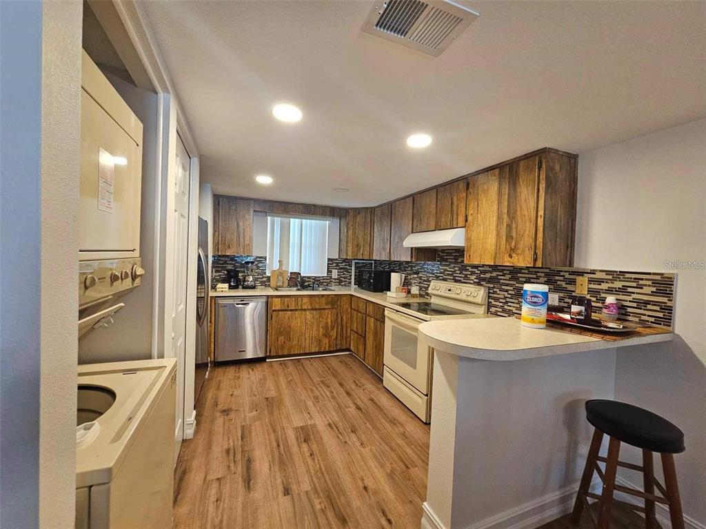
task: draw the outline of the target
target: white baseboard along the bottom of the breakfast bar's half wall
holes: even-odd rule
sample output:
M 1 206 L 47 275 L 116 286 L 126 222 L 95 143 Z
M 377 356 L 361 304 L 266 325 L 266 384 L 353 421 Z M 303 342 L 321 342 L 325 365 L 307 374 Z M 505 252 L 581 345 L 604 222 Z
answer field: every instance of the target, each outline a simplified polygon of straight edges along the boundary
M 599 487 L 599 478 L 591 484 L 591 490 Z M 578 491 L 578 483 L 528 501 L 513 509 L 467 525 L 465 529 L 534 529 L 544 523 L 561 518 L 571 512 Z M 424 502 L 422 505 L 421 529 L 448 529 Z M 706 528 L 698 528 L 706 529 Z

